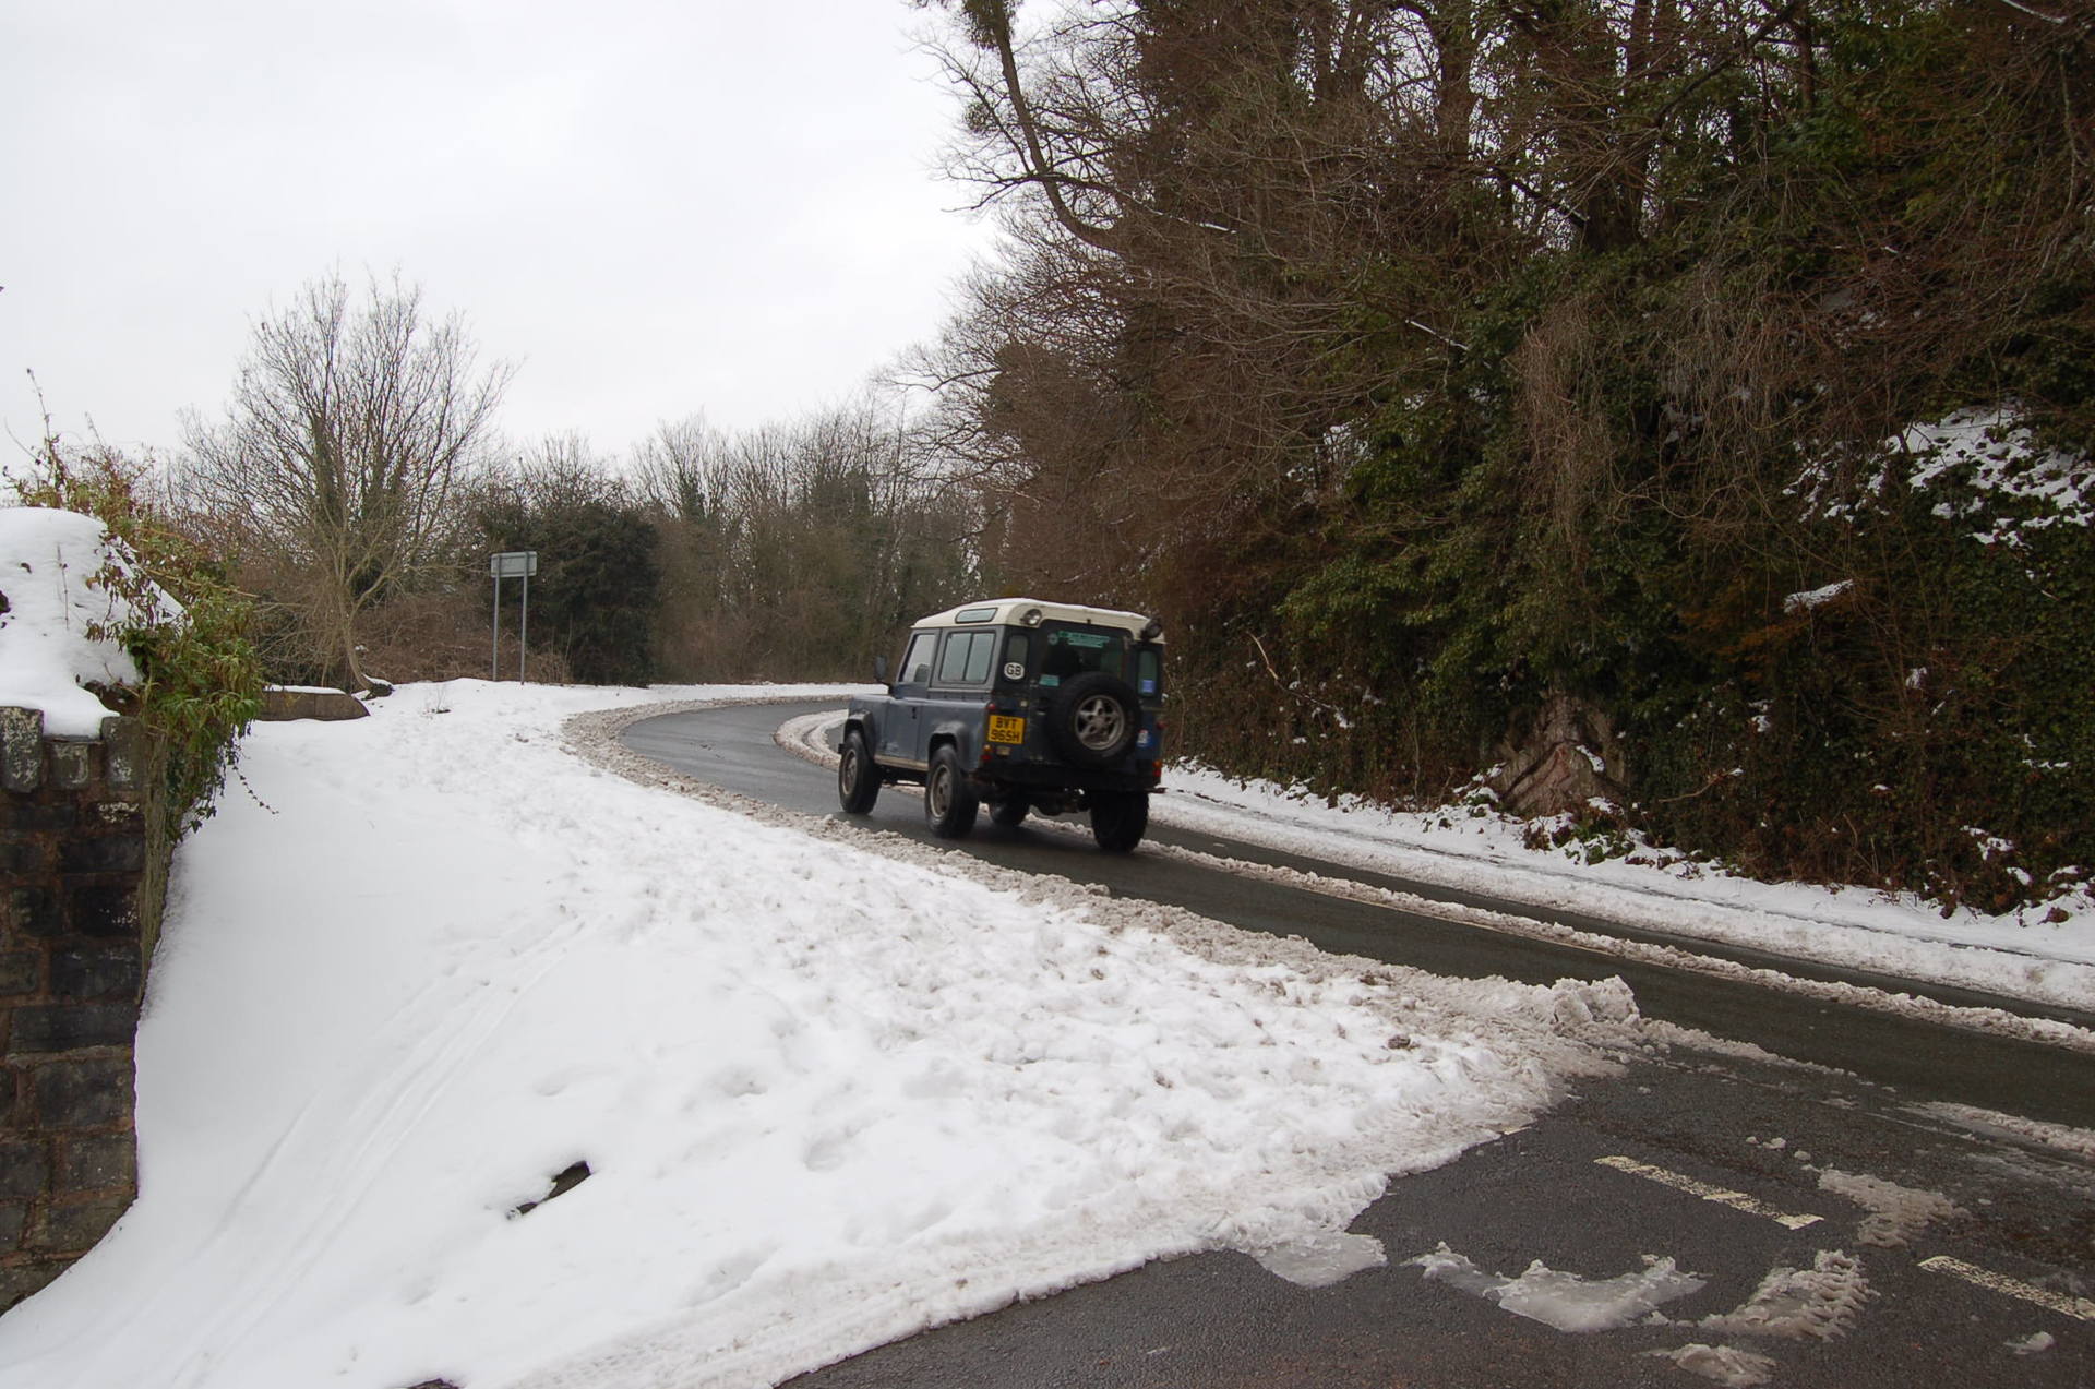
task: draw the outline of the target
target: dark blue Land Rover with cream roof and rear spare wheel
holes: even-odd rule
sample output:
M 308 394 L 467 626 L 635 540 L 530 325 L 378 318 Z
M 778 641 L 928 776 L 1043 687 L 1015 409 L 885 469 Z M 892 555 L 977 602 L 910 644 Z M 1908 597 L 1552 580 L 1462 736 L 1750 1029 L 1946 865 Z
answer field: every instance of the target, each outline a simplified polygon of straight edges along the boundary
M 1100 848 L 1127 853 L 1150 823 L 1163 758 L 1161 626 L 1140 612 L 1006 597 L 909 631 L 886 696 L 851 702 L 836 794 L 851 815 L 884 784 L 924 786 L 941 838 L 1029 813 L 1089 811 Z

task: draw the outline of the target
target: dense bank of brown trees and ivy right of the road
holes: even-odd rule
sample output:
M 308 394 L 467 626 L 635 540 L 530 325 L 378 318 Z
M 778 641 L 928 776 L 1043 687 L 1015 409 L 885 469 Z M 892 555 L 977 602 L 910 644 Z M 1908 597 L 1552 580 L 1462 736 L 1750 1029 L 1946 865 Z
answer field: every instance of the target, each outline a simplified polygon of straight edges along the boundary
M 974 421 L 1014 515 L 1096 499 L 1125 543 L 1001 564 L 1138 574 L 1179 746 L 1234 771 L 1433 802 L 1571 698 L 1619 735 L 1628 819 L 1758 874 L 2007 909 L 2095 865 L 2085 517 L 1971 469 L 1909 490 L 1886 448 L 2005 409 L 2013 467 L 2057 446 L 2095 490 L 2085 21 L 1406 6 L 1379 57 L 1410 86 L 1339 98 L 1351 13 L 1062 36 L 1127 124 L 1052 157 L 1144 197 L 1098 195 L 1100 253 L 1041 253 L 962 346 L 1001 327 Z M 1024 316 L 1050 281 L 1083 333 Z M 1081 413 L 1012 369 L 1039 360 Z M 1973 538 L 1997 522 L 2015 543 Z

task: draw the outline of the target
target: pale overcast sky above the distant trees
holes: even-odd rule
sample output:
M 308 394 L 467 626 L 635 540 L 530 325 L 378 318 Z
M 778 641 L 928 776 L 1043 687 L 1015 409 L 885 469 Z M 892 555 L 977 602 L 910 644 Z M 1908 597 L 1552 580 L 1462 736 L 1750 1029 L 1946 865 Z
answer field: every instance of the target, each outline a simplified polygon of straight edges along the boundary
M 622 453 L 846 398 L 991 230 L 905 0 L 0 0 L 0 425 L 172 448 L 335 266 Z M 0 436 L 0 453 L 19 457 Z

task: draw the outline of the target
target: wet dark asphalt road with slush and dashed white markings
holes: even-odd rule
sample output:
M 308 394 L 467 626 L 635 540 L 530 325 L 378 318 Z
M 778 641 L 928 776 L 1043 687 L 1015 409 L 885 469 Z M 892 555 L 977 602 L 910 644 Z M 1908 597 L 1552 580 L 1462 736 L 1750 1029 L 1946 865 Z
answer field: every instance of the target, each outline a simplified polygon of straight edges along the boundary
M 742 794 L 832 815 L 834 777 L 771 744 L 784 719 L 813 708 L 821 706 L 672 714 L 635 725 L 626 744 Z M 869 821 L 928 838 L 916 796 L 884 792 Z M 1156 838 L 1291 861 L 1209 836 Z M 1676 1048 L 1586 1085 L 1529 1129 L 1393 1182 L 1351 1226 L 1383 1240 L 1385 1267 L 1301 1288 L 1236 1253 L 1152 1263 L 867 1351 L 794 1381 L 798 1389 L 1693 1389 L 1712 1381 L 1661 1358 L 1691 1343 L 1764 1355 L 1766 1383 L 1774 1385 L 2095 1383 L 2095 1163 L 1940 1108 L 2091 1129 L 2095 1062 L 2085 1056 L 1215 874 L 1165 855 L 1102 855 L 1087 836 L 1001 830 L 987 817 L 964 846 L 1006 867 L 1102 882 L 1117 895 L 1184 905 L 1247 930 L 1301 934 L 1322 949 L 1441 974 L 1534 983 L 1619 974 L 1647 1016 L 1837 1071 Z M 1852 1188 L 1827 1188 L 1829 1171 L 1936 1192 L 1957 1213 L 1906 1244 L 1871 1242 L 1881 1240 L 1867 1223 L 1871 1211 Z M 1712 1190 L 1751 1200 L 1726 1205 L 1707 1198 Z M 1770 1213 L 1816 1219 L 1791 1228 Z M 1406 1263 L 1439 1244 L 1506 1276 L 1542 1259 L 1552 1270 L 1609 1278 L 1640 1270 L 1642 1255 L 1672 1257 L 1707 1278 L 1701 1293 L 1668 1305 L 1680 1322 L 1730 1311 L 1777 1270 L 1812 1270 L 1831 1255 L 1858 1261 L 1867 1297 L 1854 1324 L 1831 1339 L 1684 1324 L 1573 1335 L 1427 1282 Z M 2036 1332 L 2051 1337 L 2045 1349 L 2028 1349 Z

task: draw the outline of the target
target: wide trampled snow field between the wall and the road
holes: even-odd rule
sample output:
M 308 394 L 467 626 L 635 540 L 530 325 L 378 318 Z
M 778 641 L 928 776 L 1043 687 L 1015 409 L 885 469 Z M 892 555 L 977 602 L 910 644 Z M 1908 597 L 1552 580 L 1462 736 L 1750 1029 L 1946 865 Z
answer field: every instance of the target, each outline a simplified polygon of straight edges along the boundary
M 760 1385 L 1161 1255 L 1328 1280 L 1385 1173 L 1647 1045 L 1619 983 L 1364 972 L 564 746 L 710 693 L 256 727 L 176 865 L 140 1198 L 0 1385 Z

